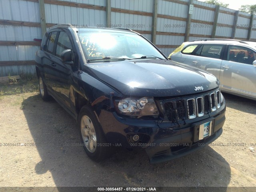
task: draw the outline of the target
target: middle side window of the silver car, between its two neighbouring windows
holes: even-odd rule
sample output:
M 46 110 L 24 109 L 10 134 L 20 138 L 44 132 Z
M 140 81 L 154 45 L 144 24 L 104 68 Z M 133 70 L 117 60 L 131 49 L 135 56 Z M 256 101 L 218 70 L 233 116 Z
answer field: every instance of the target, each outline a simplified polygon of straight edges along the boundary
M 219 59 L 224 45 L 216 44 L 203 44 L 196 52 L 195 55 L 202 57 L 209 57 Z

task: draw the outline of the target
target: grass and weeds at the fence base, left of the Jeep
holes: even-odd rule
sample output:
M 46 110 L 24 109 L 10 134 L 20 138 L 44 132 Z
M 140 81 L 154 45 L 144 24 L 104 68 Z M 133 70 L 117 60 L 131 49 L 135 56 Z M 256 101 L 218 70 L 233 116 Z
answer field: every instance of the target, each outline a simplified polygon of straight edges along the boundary
M 0 83 L 0 99 L 5 95 L 16 95 L 21 93 L 38 92 L 38 80 L 32 79 L 20 79 L 10 81 L 6 83 Z

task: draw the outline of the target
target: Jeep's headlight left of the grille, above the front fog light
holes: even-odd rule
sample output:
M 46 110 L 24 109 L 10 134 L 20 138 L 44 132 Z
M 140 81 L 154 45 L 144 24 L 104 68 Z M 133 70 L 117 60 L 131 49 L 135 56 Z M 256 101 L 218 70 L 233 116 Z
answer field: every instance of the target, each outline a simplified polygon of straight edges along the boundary
M 124 115 L 158 115 L 158 109 L 153 98 L 125 98 L 116 100 L 118 112 Z

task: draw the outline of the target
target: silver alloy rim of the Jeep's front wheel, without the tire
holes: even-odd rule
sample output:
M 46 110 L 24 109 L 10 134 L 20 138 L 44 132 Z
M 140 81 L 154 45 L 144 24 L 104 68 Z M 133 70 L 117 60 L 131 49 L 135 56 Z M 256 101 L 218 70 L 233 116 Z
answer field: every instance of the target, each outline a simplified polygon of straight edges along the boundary
M 84 145 L 91 153 L 95 152 L 97 146 L 96 132 L 92 120 L 86 115 L 81 119 L 81 133 Z

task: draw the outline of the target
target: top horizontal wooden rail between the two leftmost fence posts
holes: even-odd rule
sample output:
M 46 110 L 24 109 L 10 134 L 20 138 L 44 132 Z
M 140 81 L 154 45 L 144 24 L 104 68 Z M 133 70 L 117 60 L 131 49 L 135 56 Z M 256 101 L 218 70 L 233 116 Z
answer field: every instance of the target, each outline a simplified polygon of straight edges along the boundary
M 76 3 L 70 1 L 59 1 L 59 0 L 44 0 L 46 4 L 53 4 L 53 5 L 62 5 L 62 6 L 69 6 L 69 7 L 79 7 L 79 8 L 86 8 L 86 9 L 95 9 L 95 10 L 106 10 L 105 6 L 98 6 L 98 5 L 91 5 L 85 3 Z

